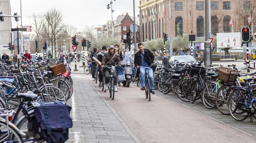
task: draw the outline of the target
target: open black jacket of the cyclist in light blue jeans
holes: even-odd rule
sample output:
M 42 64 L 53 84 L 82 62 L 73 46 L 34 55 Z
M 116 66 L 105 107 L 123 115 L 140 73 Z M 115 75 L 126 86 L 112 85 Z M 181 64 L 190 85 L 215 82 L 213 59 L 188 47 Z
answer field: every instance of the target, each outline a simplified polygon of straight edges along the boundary
M 137 66 L 141 66 L 141 56 L 140 56 L 140 51 L 138 51 L 137 53 L 135 53 L 134 55 L 134 64 L 135 67 Z M 154 55 L 153 53 L 148 50 L 148 49 L 144 49 L 144 59 L 146 62 L 148 62 L 148 66 L 151 66 L 151 64 L 154 62 Z

